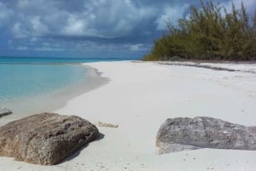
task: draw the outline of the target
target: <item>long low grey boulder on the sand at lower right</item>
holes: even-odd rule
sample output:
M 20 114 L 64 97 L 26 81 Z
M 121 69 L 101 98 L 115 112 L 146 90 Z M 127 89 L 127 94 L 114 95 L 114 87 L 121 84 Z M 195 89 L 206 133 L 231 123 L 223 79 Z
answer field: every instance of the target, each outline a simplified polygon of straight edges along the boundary
M 256 150 L 256 127 L 228 123 L 212 117 L 167 119 L 156 137 L 159 153 L 200 148 Z

